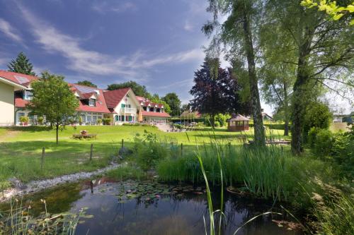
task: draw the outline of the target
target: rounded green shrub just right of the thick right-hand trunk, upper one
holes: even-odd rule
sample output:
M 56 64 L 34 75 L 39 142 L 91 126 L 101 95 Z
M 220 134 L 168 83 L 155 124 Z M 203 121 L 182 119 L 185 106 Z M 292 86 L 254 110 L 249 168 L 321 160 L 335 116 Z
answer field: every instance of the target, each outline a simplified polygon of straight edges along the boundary
M 304 117 L 305 133 L 307 133 L 312 127 L 328 129 L 331 119 L 332 114 L 326 104 L 319 102 L 309 104 Z

